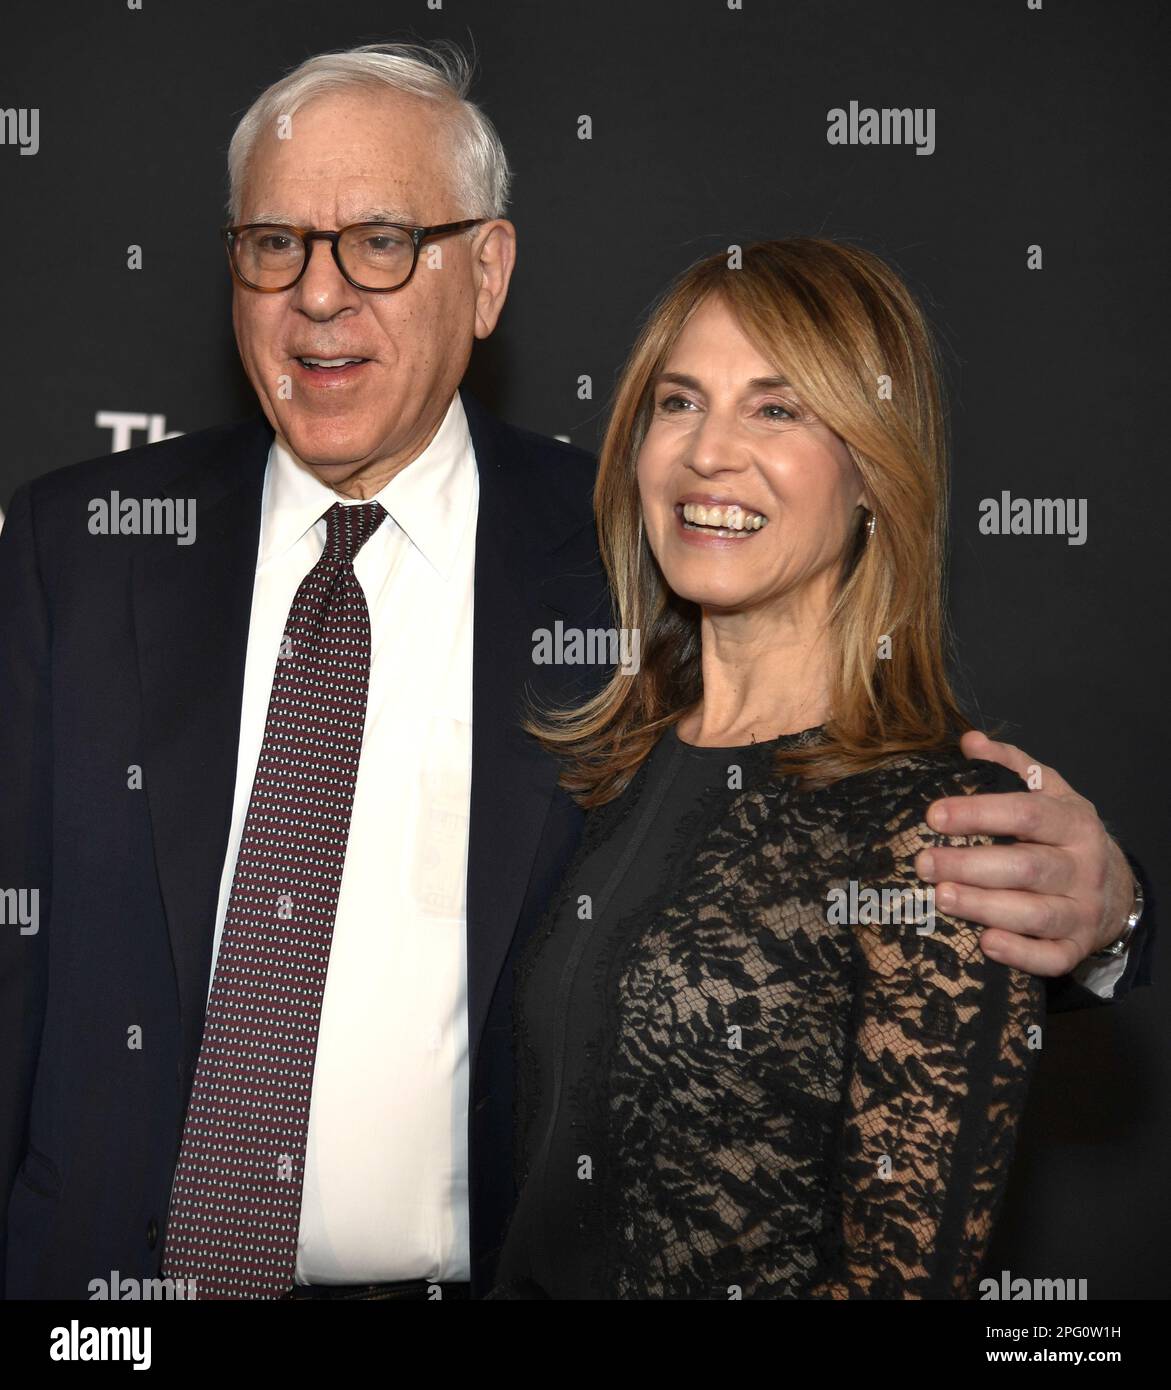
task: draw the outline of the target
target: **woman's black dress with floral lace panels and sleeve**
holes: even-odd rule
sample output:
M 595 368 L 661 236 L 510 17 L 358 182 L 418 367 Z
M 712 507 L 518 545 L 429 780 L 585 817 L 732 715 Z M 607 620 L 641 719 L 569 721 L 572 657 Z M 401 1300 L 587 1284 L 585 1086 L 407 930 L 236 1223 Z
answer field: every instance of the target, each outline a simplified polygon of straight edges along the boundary
M 819 733 L 670 731 L 587 817 L 517 962 L 488 1297 L 968 1295 L 1043 991 L 926 917 L 914 859 L 979 842 L 926 826 L 937 796 L 1024 783 L 955 749 L 798 794 L 772 755 Z

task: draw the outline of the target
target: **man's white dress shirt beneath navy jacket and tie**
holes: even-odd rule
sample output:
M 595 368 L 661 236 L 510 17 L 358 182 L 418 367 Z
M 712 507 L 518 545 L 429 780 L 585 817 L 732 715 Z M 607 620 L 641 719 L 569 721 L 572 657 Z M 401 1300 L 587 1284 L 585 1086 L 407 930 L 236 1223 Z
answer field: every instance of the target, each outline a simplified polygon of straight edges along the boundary
M 334 502 L 274 439 L 214 959 L 285 620 Z M 467 1280 L 467 826 L 478 475 L 456 393 L 353 569 L 370 689 L 321 1004 L 298 1283 Z M 353 503 L 359 505 L 359 503 Z

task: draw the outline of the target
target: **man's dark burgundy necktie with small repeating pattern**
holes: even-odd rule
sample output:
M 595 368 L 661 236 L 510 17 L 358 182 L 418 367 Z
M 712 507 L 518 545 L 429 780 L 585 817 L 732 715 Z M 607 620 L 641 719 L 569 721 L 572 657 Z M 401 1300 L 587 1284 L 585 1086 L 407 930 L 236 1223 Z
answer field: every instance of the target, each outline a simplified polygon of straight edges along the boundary
M 203 1042 L 163 1275 L 199 1298 L 293 1283 L 317 1026 L 366 723 L 370 614 L 353 557 L 377 502 L 334 503 L 281 642 Z

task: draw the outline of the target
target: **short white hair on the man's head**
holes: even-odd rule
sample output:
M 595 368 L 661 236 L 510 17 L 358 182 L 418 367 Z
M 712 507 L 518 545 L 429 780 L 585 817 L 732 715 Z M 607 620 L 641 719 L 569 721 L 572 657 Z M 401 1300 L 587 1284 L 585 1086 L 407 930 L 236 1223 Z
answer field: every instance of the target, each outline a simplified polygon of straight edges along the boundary
M 453 43 L 366 43 L 339 53 L 318 53 L 266 88 L 243 114 L 228 146 L 228 217 L 241 218 L 249 165 L 263 135 L 273 135 L 282 115 L 293 115 L 313 97 L 355 88 L 392 88 L 434 101 L 442 115 L 451 160 L 453 218 L 503 217 L 512 171 L 496 128 L 471 101 L 471 63 Z M 446 210 L 444 214 L 446 217 Z

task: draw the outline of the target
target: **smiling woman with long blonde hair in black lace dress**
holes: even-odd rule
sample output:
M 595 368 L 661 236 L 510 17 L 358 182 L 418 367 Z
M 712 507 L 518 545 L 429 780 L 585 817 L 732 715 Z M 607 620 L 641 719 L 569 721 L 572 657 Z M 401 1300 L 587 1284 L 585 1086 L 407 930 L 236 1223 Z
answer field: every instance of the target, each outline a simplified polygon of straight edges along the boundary
M 932 801 L 1024 784 L 958 749 L 907 289 L 816 239 L 694 265 L 623 373 L 595 510 L 641 667 L 531 726 L 590 815 L 519 962 L 491 1297 L 964 1297 L 1042 992 L 915 872 L 971 842 Z

